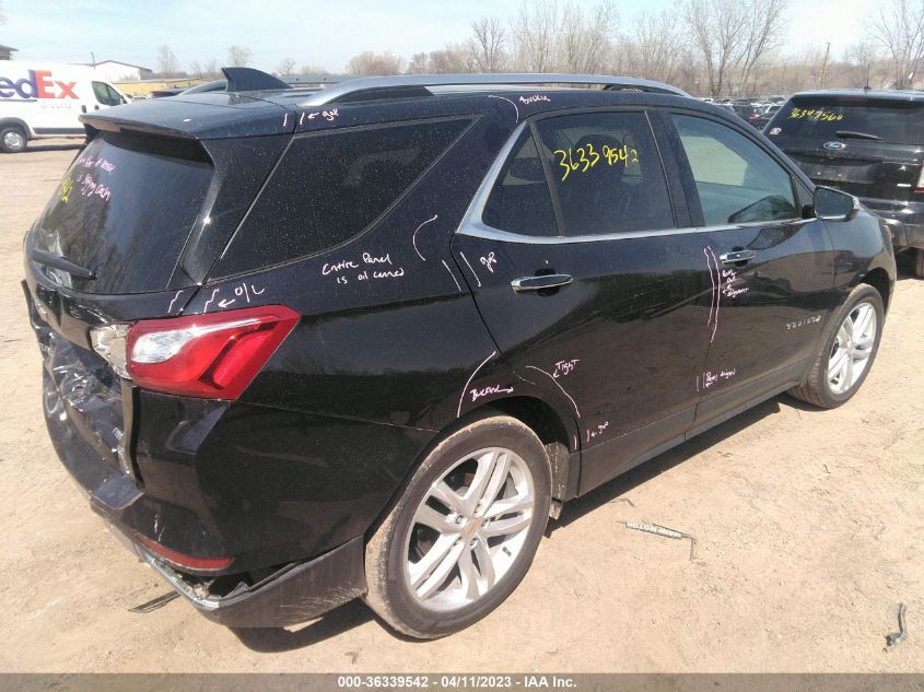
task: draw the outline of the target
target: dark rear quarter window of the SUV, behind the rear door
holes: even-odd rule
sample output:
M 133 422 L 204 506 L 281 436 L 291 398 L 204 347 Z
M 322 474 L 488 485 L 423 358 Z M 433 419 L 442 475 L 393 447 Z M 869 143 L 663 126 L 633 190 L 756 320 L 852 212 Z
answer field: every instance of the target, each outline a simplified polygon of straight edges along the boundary
M 296 138 L 213 274 L 280 265 L 355 237 L 470 124 L 417 120 Z

